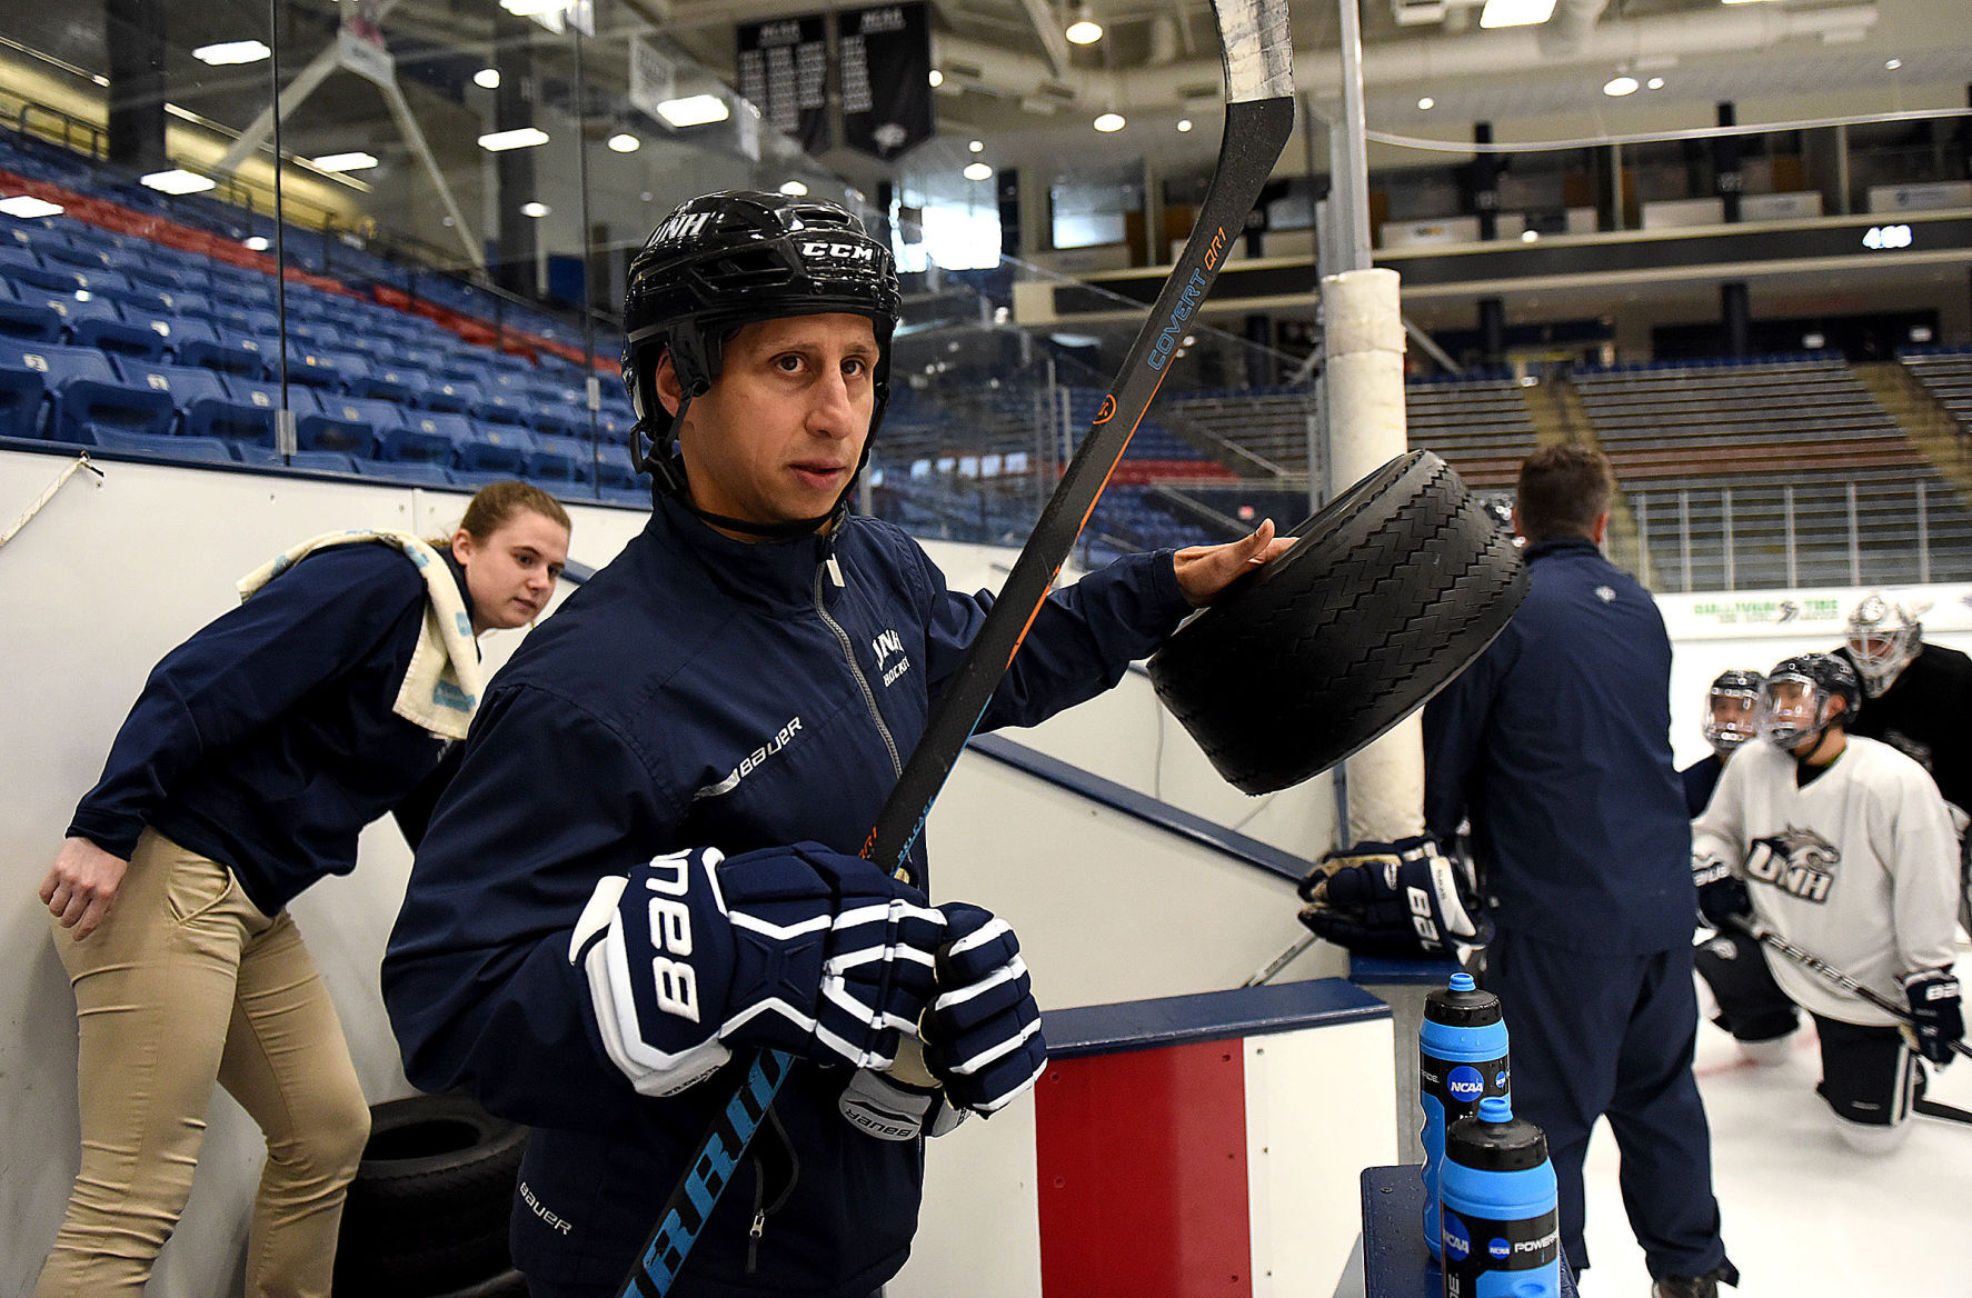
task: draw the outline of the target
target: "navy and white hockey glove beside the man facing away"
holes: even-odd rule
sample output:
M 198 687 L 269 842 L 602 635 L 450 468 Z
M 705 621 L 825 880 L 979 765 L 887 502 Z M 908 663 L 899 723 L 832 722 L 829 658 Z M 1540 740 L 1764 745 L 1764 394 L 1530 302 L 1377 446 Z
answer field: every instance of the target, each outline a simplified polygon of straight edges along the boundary
M 1302 923 L 1361 955 L 1436 955 L 1491 937 L 1471 866 L 1430 834 L 1325 852 L 1298 892 Z

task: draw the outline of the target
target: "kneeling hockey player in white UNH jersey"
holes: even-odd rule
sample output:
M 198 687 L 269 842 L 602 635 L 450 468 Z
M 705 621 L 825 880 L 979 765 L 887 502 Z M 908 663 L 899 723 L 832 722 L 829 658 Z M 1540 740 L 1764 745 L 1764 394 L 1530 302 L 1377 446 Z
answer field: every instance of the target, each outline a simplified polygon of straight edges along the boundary
M 1787 1057 L 1798 1008 L 1814 1016 L 1816 1087 L 1844 1140 L 1895 1148 L 1923 1069 L 1964 1036 L 1952 976 L 1958 846 L 1937 785 L 1887 744 L 1848 732 L 1856 669 L 1830 653 L 1781 661 L 1747 744 L 1692 825 L 1698 907 L 1718 937 L 1698 949 L 1726 1028 L 1755 1061 Z M 1909 1022 L 1836 990 L 1753 937 L 1767 929 L 1840 967 Z

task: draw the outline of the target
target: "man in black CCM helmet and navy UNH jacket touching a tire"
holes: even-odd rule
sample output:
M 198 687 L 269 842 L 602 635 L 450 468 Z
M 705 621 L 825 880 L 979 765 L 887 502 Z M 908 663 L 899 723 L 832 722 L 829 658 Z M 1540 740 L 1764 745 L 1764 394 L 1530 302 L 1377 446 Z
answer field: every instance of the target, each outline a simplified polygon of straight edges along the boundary
M 921 846 L 909 880 L 856 856 L 990 606 L 844 507 L 895 322 L 887 249 L 826 203 L 692 199 L 631 268 L 625 377 L 678 456 L 489 692 L 385 957 L 410 1079 L 536 1128 L 536 1298 L 619 1292 L 763 1046 L 799 1063 L 670 1294 L 864 1298 L 909 1251 L 937 1107 L 992 1113 L 1045 1061 L 1006 925 L 931 905 Z M 1108 688 L 1280 548 L 1262 527 L 1057 592 L 980 728 Z M 954 973 L 947 943 L 990 955 Z M 960 1024 L 974 988 L 998 1008 Z M 943 1101 L 911 1111 L 883 1069 L 921 1014 Z

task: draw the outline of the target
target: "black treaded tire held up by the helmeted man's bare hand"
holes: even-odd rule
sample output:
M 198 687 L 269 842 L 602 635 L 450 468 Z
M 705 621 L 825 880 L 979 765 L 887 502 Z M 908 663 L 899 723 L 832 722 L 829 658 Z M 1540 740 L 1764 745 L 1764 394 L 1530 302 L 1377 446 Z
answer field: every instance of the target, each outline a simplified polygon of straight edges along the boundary
M 1410 716 L 1526 598 L 1513 539 L 1428 450 L 1292 535 L 1150 659 L 1163 706 L 1244 793 L 1319 775 Z

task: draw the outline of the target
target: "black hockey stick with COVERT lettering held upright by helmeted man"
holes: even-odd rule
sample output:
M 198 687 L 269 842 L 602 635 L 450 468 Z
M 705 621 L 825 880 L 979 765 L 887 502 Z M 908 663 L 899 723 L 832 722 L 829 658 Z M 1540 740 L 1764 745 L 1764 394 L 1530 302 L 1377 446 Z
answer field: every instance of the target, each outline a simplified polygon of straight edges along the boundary
M 1219 140 L 1219 164 L 1197 223 L 1152 304 L 1150 318 L 1130 343 L 1116 387 L 1102 398 L 1089 436 L 1083 438 L 1061 483 L 1041 509 L 1025 548 L 1000 586 L 1000 598 L 966 647 L 876 827 L 864 840 L 862 856 L 885 872 L 905 870 L 911 844 L 917 842 L 933 801 L 992 702 L 994 688 L 1020 651 L 1027 627 L 1039 615 L 1061 564 L 1075 548 L 1075 539 L 1094 513 L 1096 499 L 1169 373 L 1185 329 L 1191 327 L 1199 304 L 1219 278 L 1232 239 L 1244 229 L 1246 213 L 1252 211 L 1260 185 L 1272 176 L 1280 150 L 1294 130 L 1288 0 L 1213 0 L 1213 16 L 1219 22 L 1227 77 L 1227 120 Z M 745 1081 L 706 1130 L 698 1152 L 665 1201 L 657 1227 L 619 1290 L 621 1298 L 663 1298 L 670 1292 L 684 1257 L 791 1067 L 793 1059 L 779 1051 L 759 1051 L 747 1065 Z

